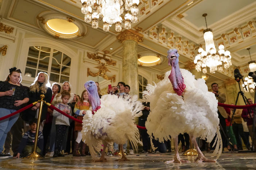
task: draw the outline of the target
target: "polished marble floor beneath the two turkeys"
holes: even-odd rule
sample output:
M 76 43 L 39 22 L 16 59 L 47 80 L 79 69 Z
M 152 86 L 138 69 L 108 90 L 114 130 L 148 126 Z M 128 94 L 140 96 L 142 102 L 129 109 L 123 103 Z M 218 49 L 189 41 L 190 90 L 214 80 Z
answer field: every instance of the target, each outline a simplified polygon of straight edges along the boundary
M 207 158 L 210 158 L 211 154 L 205 153 Z M 0 158 L 0 169 L 1 170 L 168 170 L 168 169 L 230 169 L 230 170 L 241 170 L 241 169 L 256 169 L 256 153 L 223 153 L 217 160 L 217 163 L 193 162 L 195 157 L 181 156 L 182 159 L 190 160 L 191 163 L 169 163 L 165 161 L 172 159 L 174 153 L 163 153 L 163 154 L 135 154 L 128 155 L 130 161 L 117 162 L 117 156 L 106 157 L 108 162 L 93 162 L 92 157 L 72 157 L 67 155 L 65 157 L 45 157 L 39 159 L 29 158 L 11 158 L 2 157 Z

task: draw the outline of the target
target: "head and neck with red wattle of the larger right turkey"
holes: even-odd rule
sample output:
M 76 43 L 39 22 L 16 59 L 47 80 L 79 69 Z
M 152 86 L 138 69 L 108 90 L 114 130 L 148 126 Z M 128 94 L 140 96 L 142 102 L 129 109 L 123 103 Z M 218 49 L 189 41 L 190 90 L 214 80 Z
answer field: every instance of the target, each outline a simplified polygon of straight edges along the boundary
M 167 51 L 168 65 L 171 65 L 171 74 L 168 76 L 171 81 L 173 90 L 181 96 L 186 85 L 179 69 L 179 53 L 177 49 L 170 49 Z

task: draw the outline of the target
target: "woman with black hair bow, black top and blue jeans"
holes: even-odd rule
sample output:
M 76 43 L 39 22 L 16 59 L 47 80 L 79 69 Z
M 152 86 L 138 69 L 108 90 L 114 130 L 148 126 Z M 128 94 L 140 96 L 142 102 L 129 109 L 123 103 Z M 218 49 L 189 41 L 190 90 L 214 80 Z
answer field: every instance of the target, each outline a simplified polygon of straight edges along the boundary
M 9 69 L 9 75 L 5 81 L 0 81 L 0 117 L 7 116 L 22 108 L 22 104 L 29 101 L 28 92 L 24 90 L 18 82 L 20 81 L 21 71 L 13 67 Z M 15 90 L 13 90 L 15 89 Z M 0 156 L 3 154 L 3 146 L 7 133 L 13 124 L 18 120 L 19 113 L 0 121 Z

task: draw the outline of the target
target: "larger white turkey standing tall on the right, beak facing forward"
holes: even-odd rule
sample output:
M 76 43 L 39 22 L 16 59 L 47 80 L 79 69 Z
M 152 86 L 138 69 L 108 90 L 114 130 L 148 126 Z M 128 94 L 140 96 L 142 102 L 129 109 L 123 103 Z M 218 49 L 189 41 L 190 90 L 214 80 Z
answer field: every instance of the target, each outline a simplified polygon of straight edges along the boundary
M 168 50 L 168 64 L 172 66 L 164 79 L 158 84 L 147 85 L 144 99 L 150 102 L 150 114 L 146 121 L 148 134 L 154 135 L 160 142 L 174 138 L 175 157 L 170 162 L 189 162 L 181 159 L 178 153 L 178 134 L 188 133 L 198 151 L 197 162 L 216 162 L 207 159 L 199 149 L 196 137 L 215 140 L 213 155 L 217 158 L 222 152 L 222 140 L 217 114 L 218 101 L 212 92 L 208 92 L 205 80 L 195 79 L 188 70 L 180 69 L 178 50 Z M 152 137 L 152 136 L 151 136 Z

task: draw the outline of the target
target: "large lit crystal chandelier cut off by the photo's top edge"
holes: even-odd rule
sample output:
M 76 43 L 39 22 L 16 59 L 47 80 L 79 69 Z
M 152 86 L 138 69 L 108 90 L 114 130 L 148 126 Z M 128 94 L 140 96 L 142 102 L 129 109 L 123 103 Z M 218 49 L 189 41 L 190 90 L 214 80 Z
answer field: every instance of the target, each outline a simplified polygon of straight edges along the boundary
M 120 32 L 121 16 L 124 16 L 125 29 L 131 29 L 131 23 L 138 22 L 139 0 L 81 0 L 81 3 L 85 22 L 92 21 L 92 28 L 98 28 L 98 22 L 102 20 L 104 31 L 108 32 L 109 27 L 115 24 L 116 32 Z

